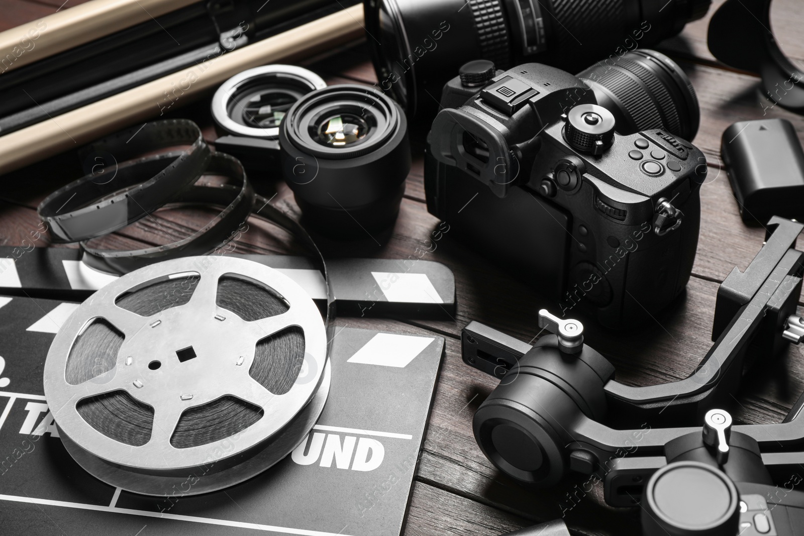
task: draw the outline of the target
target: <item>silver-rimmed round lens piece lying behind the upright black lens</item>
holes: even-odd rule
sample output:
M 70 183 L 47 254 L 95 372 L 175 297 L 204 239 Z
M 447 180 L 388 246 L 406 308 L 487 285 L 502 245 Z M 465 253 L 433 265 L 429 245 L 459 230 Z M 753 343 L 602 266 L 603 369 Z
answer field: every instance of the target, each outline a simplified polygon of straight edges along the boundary
M 220 137 L 215 149 L 232 154 L 249 171 L 279 168 L 279 125 L 307 93 L 326 88 L 320 76 L 294 65 L 248 69 L 224 82 L 212 97 Z

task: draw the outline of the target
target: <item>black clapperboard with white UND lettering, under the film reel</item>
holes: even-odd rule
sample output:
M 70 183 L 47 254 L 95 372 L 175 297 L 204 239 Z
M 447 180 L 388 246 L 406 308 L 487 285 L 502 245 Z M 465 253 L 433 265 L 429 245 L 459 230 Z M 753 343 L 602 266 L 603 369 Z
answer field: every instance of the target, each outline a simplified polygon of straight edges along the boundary
M 63 261 L 77 260 L 72 250 L 48 250 L 28 259 L 32 253 L 16 260 L 13 280 L 7 272 L 0 276 L 2 286 L 23 291 L 0 297 L 0 533 L 400 534 L 444 354 L 442 338 L 353 329 L 347 319 L 339 319 L 330 354 L 330 395 L 313 430 L 291 455 L 219 492 L 144 497 L 84 472 L 57 437 L 43 396 L 43 365 L 54 333 L 78 304 L 25 294 L 81 291 L 82 284 L 87 292 L 102 280 L 90 283 L 88 276 L 96 274 L 68 268 Z M 283 271 L 314 269 L 296 257 L 263 260 Z M 396 261 L 339 262 L 344 273 L 350 263 L 356 270 L 343 287 L 363 293 L 365 288 L 355 290 L 355 281 L 373 288 L 374 274 L 392 273 L 394 265 L 385 263 Z M 62 267 L 60 272 L 52 269 L 54 264 Z M 51 272 L 41 271 L 45 265 Z M 445 267 L 438 272 L 425 273 L 444 301 L 438 305 L 449 306 L 452 274 Z M 76 273 L 84 273 L 84 283 Z M 325 292 L 311 283 L 312 273 L 306 278 L 302 285 L 312 297 Z M 335 277 L 332 283 L 337 296 L 341 283 Z M 393 303 L 395 292 L 381 296 Z

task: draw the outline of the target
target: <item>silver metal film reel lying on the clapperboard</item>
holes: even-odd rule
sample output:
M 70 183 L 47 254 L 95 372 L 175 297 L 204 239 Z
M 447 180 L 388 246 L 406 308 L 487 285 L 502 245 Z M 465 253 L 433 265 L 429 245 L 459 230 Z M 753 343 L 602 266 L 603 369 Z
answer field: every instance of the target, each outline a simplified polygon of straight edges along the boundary
M 249 260 L 187 257 L 100 289 L 57 333 L 47 403 L 93 476 L 147 495 L 253 477 L 310 432 L 329 391 L 318 308 Z

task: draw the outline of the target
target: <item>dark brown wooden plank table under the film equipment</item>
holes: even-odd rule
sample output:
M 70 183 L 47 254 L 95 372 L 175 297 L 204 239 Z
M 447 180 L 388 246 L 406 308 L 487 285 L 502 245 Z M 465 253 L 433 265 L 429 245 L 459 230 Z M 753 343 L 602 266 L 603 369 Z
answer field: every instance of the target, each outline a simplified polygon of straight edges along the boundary
M 425 1 L 425 0 L 423 0 Z M 0 30 L 54 12 L 62 0 L 0 0 Z M 68 5 L 75 4 L 68 0 Z M 720 0 L 713 2 L 711 15 Z M 804 62 L 804 39 L 796 31 L 804 23 L 801 0 L 776 0 L 773 30 L 794 59 Z M 711 345 L 712 313 L 720 281 L 735 266 L 745 269 L 759 250 L 765 230 L 748 227 L 737 211 L 721 169 L 720 136 L 734 121 L 786 117 L 804 139 L 804 120 L 780 107 L 767 108 L 757 96 L 758 79 L 718 64 L 706 46 L 708 17 L 689 24 L 682 35 L 657 47 L 677 59 L 694 84 L 701 105 L 695 145 L 708 158 L 709 178 L 701 190 L 702 215 L 698 255 L 687 293 L 662 316 L 636 333 L 606 333 L 589 326 L 586 341 L 617 366 L 617 378 L 631 385 L 673 381 L 687 376 Z M 310 68 L 330 84 L 375 83 L 363 44 L 338 51 Z M 208 100 L 190 104 L 174 117 L 190 117 L 203 125 L 209 141 L 215 133 Z M 471 320 L 531 341 L 539 333 L 537 311 L 548 306 L 527 285 L 508 276 L 476 252 L 450 239 L 435 239 L 438 221 L 425 207 L 422 170 L 423 139 L 413 139 L 414 163 L 400 217 L 388 239 L 367 236 L 349 243 L 323 243 L 330 256 L 376 256 L 436 260 L 452 268 L 457 280 L 457 313 L 446 321 L 340 319 L 349 325 L 377 325 L 400 333 L 437 333 L 446 339 L 447 355 L 437 386 L 404 534 L 461 536 L 500 534 L 552 518 L 565 518 L 576 534 L 638 534 L 638 509 L 613 509 L 602 500 L 601 485 L 568 479 L 548 491 L 532 492 L 501 476 L 475 444 L 471 418 L 494 388 L 495 380 L 461 362 L 460 332 Z M 80 174 L 76 155 L 66 153 L 2 178 L 0 243 L 18 245 L 39 224 L 35 208 L 51 190 Z M 256 178 L 263 193 L 277 194 L 273 203 L 298 213 L 283 182 Z M 201 211 L 162 211 L 142 219 L 109 239 L 119 248 L 165 243 L 187 235 L 207 221 Z M 47 237 L 37 243 L 49 245 Z M 259 223 L 237 244 L 239 252 L 294 252 L 293 243 Z M 780 421 L 804 391 L 804 349 L 793 347 L 786 358 L 749 371 L 750 382 L 736 393 L 732 411 L 742 423 Z

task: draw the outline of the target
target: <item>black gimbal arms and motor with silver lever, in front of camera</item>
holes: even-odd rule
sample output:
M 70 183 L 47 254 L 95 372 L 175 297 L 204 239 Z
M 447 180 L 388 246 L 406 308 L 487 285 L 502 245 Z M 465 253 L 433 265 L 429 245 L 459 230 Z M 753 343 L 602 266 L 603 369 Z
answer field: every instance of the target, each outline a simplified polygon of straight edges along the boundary
M 777 354 L 804 338 L 804 321 L 796 315 L 804 252 L 795 249 L 804 225 L 773 218 L 768 228 L 772 232 L 745 272 L 735 268 L 720 285 L 715 343 L 695 372 L 678 382 L 650 387 L 617 383 L 611 363 L 585 346 L 583 325 L 544 310 L 539 325 L 555 334 L 534 346 L 477 322 L 467 325 L 464 361 L 501 378 L 474 415 L 482 451 L 524 485 L 556 485 L 568 470 L 595 474 L 605 479 L 610 505 L 633 505 L 642 483 L 667 464 L 667 449 L 681 448 L 672 440 L 693 434 L 703 441 L 700 428 L 636 427 L 667 423 L 668 415 L 674 422 L 702 422 L 706 411 L 736 390 L 747 355 Z M 804 397 L 784 423 L 735 426 L 732 441 L 739 437 L 756 443 L 757 455 L 761 452 L 772 473 L 804 463 L 802 406 Z M 611 428 L 607 422 L 612 417 L 636 429 Z M 685 445 L 684 452 L 701 446 L 695 441 Z

